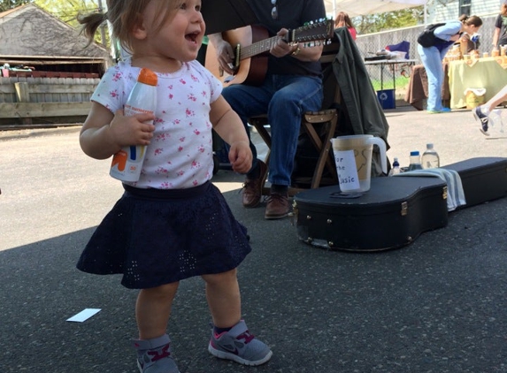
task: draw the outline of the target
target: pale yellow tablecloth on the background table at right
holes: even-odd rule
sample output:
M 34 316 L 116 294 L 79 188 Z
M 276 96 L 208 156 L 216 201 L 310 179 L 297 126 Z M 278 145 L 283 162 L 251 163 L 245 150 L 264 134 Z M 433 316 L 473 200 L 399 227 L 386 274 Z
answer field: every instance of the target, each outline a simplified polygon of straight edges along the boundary
M 485 101 L 507 85 L 507 69 L 504 69 L 494 57 L 479 58 L 474 64 L 465 61 L 449 62 L 450 107 L 466 107 L 466 88 L 486 88 Z

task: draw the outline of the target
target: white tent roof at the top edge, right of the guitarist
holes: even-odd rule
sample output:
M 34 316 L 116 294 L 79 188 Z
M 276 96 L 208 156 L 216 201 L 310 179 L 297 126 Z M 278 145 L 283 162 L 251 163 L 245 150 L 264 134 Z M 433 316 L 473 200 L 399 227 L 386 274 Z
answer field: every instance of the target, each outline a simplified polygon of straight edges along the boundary
M 357 17 L 425 5 L 427 0 L 324 0 L 324 3 L 327 13 L 336 15 L 345 11 L 350 17 Z

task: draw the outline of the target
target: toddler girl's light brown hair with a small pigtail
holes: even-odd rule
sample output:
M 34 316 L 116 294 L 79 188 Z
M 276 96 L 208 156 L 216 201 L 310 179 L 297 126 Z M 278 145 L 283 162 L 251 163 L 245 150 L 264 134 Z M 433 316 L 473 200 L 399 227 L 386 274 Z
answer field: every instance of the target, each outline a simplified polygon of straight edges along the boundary
M 111 23 L 112 37 L 126 50 L 132 50 L 132 30 L 142 22 L 142 11 L 152 1 L 157 1 L 157 29 L 165 20 L 173 16 L 183 0 L 107 0 L 107 12 L 99 11 L 87 15 L 78 15 L 82 25 L 81 33 L 88 37 L 88 45 L 93 42 L 98 27 L 106 20 Z

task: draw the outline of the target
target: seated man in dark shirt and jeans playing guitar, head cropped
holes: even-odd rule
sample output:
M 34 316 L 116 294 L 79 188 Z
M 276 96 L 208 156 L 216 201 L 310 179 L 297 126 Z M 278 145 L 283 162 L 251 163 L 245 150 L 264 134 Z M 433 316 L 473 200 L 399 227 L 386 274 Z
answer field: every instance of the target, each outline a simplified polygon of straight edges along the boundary
M 267 113 L 271 127 L 272 146 L 269 159 L 270 195 L 265 207 L 266 219 L 288 216 L 288 186 L 294 168 L 301 118 L 305 111 L 320 110 L 323 98 L 322 70 L 319 58 L 322 45 L 305 47 L 303 43 L 288 43 L 283 37 L 288 29 L 304 23 L 324 19 L 326 10 L 322 0 L 247 0 L 257 15 L 260 27 L 269 37 L 280 36 L 269 50 L 267 73 L 259 86 L 235 84 L 224 89 L 227 102 L 242 118 Z M 210 41 L 217 49 L 219 65 L 233 74 L 234 52 L 222 34 L 211 34 Z M 257 159 L 257 150 L 250 141 L 254 156 L 242 190 L 245 208 L 257 207 L 267 175 L 267 166 Z

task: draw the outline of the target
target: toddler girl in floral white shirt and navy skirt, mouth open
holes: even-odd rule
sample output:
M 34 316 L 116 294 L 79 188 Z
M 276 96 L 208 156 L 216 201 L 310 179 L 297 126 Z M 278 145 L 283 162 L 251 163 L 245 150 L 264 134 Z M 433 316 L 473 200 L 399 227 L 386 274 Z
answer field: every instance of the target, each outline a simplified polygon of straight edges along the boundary
M 107 19 L 132 57 L 111 67 L 97 86 L 81 148 L 96 159 L 124 146 L 147 148 L 141 178 L 123 183 L 125 193 L 77 267 L 121 273 L 122 285 L 141 289 L 134 347 L 142 373 L 179 372 L 166 328 L 179 282 L 193 276 L 206 284 L 214 324 L 209 352 L 245 365 L 267 362 L 270 348 L 241 319 L 236 268 L 250 253 L 246 229 L 210 181 L 211 127 L 230 144 L 234 171 L 248 171 L 252 156 L 220 81 L 195 60 L 205 27 L 201 0 L 108 0 L 107 8 L 81 18 L 85 34 L 91 42 Z M 157 110 L 126 117 L 123 105 L 142 67 L 157 73 Z M 154 125 L 145 123 L 150 120 Z

